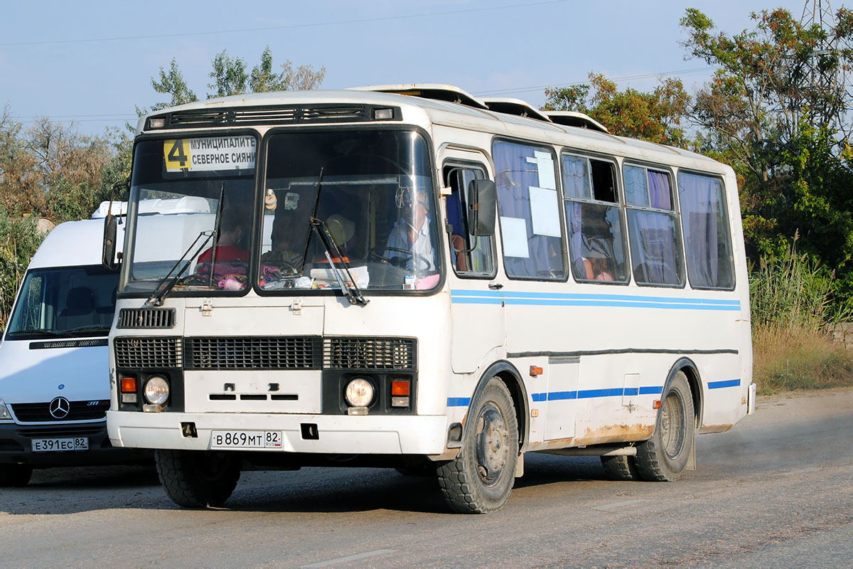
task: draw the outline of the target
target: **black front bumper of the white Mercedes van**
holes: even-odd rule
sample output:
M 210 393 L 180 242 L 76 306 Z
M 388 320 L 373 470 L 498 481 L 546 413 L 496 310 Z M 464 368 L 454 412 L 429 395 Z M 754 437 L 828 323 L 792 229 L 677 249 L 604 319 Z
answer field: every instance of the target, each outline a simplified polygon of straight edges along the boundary
M 35 451 L 34 439 L 88 438 L 88 450 Z M 125 464 L 151 459 L 150 451 L 120 449 L 110 443 L 107 423 L 76 425 L 20 425 L 0 423 L 0 464 L 32 467 L 73 467 Z

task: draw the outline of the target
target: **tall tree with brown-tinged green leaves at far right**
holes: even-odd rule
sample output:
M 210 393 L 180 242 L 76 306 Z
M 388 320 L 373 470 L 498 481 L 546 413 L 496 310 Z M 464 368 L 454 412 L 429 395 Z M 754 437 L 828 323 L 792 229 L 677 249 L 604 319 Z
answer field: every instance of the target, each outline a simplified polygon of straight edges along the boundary
M 689 109 L 703 129 L 697 146 L 738 173 L 753 258 L 783 254 L 798 234 L 801 252 L 847 273 L 851 98 L 843 82 L 821 84 L 814 73 L 831 77 L 853 63 L 845 47 L 853 13 L 838 10 L 832 29 L 803 26 L 783 9 L 751 17 L 755 28 L 734 36 L 699 10 L 682 18 L 688 57 L 717 67 Z

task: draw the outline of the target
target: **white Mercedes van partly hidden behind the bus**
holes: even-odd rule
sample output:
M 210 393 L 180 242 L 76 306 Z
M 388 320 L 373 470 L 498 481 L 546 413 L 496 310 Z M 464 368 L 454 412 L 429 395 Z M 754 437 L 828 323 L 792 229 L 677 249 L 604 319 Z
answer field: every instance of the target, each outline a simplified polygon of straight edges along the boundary
M 107 438 L 119 274 L 102 266 L 104 213 L 56 226 L 26 270 L 0 343 L 0 486 L 139 454 Z

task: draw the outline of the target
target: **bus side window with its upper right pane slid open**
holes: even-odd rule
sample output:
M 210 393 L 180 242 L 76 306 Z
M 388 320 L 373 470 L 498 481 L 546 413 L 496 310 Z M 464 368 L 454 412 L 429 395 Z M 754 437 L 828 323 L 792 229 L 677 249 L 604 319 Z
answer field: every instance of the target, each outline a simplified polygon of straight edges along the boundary
M 563 154 L 569 254 L 577 281 L 628 282 L 615 165 Z

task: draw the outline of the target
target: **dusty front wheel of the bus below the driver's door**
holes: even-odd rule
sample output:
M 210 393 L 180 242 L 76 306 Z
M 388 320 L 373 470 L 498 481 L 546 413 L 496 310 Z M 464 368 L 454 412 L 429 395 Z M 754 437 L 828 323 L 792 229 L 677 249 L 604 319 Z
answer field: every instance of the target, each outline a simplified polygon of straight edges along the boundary
M 488 514 L 507 502 L 519 460 L 518 421 L 502 380 L 489 380 L 468 417 L 459 456 L 437 468 L 438 486 L 455 512 Z

